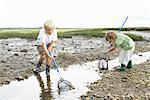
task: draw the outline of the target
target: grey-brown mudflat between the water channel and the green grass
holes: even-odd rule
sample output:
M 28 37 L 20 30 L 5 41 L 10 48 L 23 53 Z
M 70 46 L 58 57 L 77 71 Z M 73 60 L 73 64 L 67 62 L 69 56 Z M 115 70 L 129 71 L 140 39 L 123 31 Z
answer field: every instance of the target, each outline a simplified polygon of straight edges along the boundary
M 58 57 L 62 67 L 71 64 L 82 64 L 82 62 L 98 59 L 105 47 L 100 38 L 74 37 L 61 39 L 61 52 Z M 26 39 L 2 39 L 0 40 L 0 85 L 8 84 L 12 80 L 23 80 L 33 74 L 33 68 L 37 63 L 38 52 L 36 41 Z M 137 52 L 150 51 L 150 42 L 136 42 Z M 112 53 L 110 58 L 118 55 L 118 51 Z M 45 65 L 42 65 L 42 70 Z

